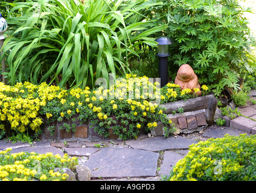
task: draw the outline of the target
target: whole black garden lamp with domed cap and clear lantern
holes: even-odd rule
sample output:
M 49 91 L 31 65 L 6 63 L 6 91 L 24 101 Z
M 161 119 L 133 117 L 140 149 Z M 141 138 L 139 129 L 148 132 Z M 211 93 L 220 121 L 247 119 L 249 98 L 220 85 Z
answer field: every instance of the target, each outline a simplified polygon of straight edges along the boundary
M 168 45 L 172 44 L 170 38 L 162 36 L 156 40 L 158 42 L 158 54 L 159 57 L 159 78 L 161 78 L 161 87 L 168 83 Z

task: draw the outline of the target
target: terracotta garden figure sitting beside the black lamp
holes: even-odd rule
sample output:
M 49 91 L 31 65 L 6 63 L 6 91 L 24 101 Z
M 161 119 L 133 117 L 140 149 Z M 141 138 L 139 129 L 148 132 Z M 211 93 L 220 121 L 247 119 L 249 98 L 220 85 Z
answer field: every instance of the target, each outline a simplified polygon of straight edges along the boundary
M 190 65 L 181 65 L 177 72 L 177 76 L 174 81 L 175 84 L 179 84 L 182 90 L 199 88 L 200 84 L 198 83 L 197 75 L 194 73 Z M 197 92 L 196 95 L 200 96 L 201 91 Z

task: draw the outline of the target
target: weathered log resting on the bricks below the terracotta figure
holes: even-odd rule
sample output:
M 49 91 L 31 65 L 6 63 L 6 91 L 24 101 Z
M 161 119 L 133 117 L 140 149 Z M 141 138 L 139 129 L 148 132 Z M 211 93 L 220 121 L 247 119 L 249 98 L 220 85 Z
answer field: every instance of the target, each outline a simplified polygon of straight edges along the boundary
M 173 113 L 173 110 L 177 112 L 179 107 L 182 107 L 184 112 L 190 112 L 200 109 L 208 109 L 208 103 L 210 99 L 216 100 L 214 95 L 206 95 L 197 98 L 190 98 L 186 101 L 176 101 L 172 103 L 161 104 L 161 107 L 165 108 L 165 110 L 163 110 L 165 114 L 171 114 Z

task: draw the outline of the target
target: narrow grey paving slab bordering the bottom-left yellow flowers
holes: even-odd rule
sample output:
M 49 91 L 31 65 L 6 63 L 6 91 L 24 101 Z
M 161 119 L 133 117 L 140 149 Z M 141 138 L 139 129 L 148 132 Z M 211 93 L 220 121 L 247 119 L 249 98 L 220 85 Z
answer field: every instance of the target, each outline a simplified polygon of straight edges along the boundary
M 21 151 L 29 152 L 29 153 L 34 151 L 34 153 L 38 153 L 38 154 L 46 154 L 51 152 L 54 155 L 59 154 L 60 156 L 64 156 L 63 151 L 56 147 L 22 147 L 22 148 L 11 150 L 10 153 L 19 153 Z

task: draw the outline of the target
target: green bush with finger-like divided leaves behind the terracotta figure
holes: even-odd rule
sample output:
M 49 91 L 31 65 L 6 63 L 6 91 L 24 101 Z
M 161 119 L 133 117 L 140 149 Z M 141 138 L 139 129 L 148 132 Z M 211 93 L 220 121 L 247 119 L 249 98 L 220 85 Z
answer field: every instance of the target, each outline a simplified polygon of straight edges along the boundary
M 237 72 L 242 66 L 249 68 L 245 65 L 249 46 L 255 42 L 243 17 L 251 9 L 237 0 L 163 2 L 147 11 L 149 17 L 159 19 L 155 25 L 168 23 L 165 34 L 174 40 L 169 49 L 170 77 L 174 80 L 179 66 L 188 63 L 200 83 L 214 87 L 216 95 L 225 86 L 237 89 Z

